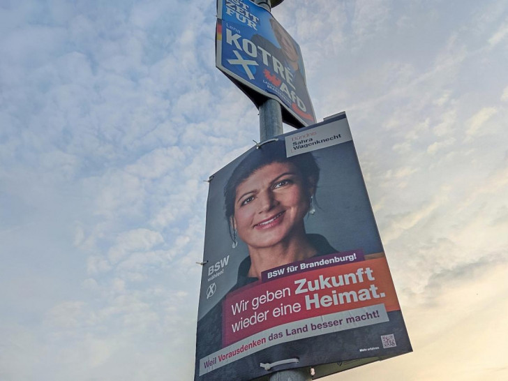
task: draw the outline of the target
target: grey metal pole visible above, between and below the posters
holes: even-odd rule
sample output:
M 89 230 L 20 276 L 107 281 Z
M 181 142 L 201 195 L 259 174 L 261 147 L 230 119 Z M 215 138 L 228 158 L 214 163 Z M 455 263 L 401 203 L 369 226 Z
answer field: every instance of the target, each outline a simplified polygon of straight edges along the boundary
M 282 0 L 255 0 L 255 3 L 262 8 L 271 12 L 271 4 L 278 5 Z M 277 100 L 267 98 L 262 105 L 260 105 L 260 139 L 271 139 L 276 135 L 283 133 L 282 128 L 282 109 Z M 270 375 L 269 381 L 311 381 L 311 369 L 299 368 L 288 369 L 287 371 L 280 371 Z

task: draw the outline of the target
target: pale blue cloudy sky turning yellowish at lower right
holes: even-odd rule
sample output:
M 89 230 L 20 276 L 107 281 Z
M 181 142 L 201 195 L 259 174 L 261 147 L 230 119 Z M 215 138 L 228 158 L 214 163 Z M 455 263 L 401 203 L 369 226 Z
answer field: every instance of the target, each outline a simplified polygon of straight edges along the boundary
M 259 137 L 215 7 L 0 0 L 0 380 L 193 378 L 204 180 Z M 507 380 L 508 1 L 273 14 L 348 115 L 414 350 L 327 380 Z

